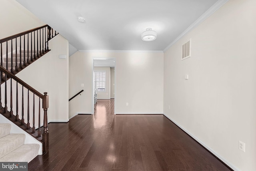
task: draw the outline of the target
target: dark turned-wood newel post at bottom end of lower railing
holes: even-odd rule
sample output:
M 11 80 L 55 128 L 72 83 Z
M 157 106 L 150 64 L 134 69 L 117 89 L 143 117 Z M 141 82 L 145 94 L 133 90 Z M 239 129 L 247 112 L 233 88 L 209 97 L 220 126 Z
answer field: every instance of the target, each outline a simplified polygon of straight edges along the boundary
M 47 93 L 44 93 L 43 98 L 43 109 L 44 109 L 44 133 L 43 133 L 43 153 L 47 153 L 49 151 L 49 132 L 48 132 L 48 121 L 47 121 L 47 109 L 49 107 L 49 96 Z

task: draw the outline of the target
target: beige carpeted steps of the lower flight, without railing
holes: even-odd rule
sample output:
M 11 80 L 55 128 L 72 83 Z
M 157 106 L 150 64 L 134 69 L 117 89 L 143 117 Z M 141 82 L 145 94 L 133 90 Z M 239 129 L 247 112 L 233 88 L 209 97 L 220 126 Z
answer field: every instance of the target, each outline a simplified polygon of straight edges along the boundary
M 24 144 L 25 134 L 11 133 L 10 123 L 0 123 L 0 162 L 30 162 L 40 145 Z

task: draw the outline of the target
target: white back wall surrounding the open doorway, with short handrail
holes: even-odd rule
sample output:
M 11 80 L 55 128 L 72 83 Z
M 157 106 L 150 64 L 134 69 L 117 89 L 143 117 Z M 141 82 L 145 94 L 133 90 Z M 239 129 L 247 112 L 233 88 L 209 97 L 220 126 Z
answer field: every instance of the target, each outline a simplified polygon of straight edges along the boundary
M 77 112 L 92 113 L 93 58 L 116 58 L 116 113 L 163 112 L 163 53 L 149 52 L 76 52 L 69 58 L 70 97 L 85 92 L 70 101 L 70 117 Z M 126 106 L 128 103 L 128 106 Z

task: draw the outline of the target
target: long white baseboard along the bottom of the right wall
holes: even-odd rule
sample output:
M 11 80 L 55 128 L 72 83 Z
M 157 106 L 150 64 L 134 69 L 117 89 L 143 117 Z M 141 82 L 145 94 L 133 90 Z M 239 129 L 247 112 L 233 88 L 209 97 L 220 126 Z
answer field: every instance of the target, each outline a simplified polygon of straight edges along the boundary
M 218 155 L 218 153 L 216 153 L 213 149 L 211 149 L 210 147 L 208 147 L 206 144 L 204 144 L 202 141 L 200 141 L 197 137 L 195 137 L 193 134 L 191 134 L 189 131 L 187 131 L 186 129 L 184 129 L 181 125 L 179 125 L 178 123 L 176 123 L 174 120 L 172 120 L 170 117 L 168 117 L 166 114 L 163 113 L 163 115 L 165 117 L 167 117 L 168 119 L 170 119 L 170 121 L 172 121 L 175 125 L 177 125 L 178 127 L 180 127 L 180 129 L 182 129 L 183 131 L 185 131 L 188 135 L 190 135 L 192 138 L 194 138 L 198 143 L 200 143 L 203 147 L 205 147 L 206 149 L 208 149 L 212 154 L 214 154 L 216 157 L 218 157 L 221 161 L 223 161 L 223 163 L 225 163 L 226 165 L 228 165 L 231 169 L 238 171 L 241 169 L 238 169 L 236 167 L 234 167 L 234 165 L 232 165 L 231 163 L 229 163 L 228 161 L 226 161 L 226 159 L 224 159 L 223 157 L 221 157 L 220 155 Z

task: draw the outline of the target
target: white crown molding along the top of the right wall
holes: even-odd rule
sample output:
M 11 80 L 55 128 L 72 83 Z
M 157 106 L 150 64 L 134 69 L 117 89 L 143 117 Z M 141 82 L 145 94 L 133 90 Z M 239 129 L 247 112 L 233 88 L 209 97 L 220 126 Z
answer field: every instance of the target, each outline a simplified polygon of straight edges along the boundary
M 228 0 L 218 0 L 215 4 L 213 4 L 202 16 L 200 16 L 193 24 L 191 24 L 180 36 L 178 36 L 172 43 L 170 43 L 166 48 L 164 48 L 163 52 L 166 52 L 172 45 L 174 45 L 180 38 L 182 38 L 185 34 L 196 28 L 201 22 L 206 20 L 210 15 L 212 15 L 216 10 L 218 10 L 221 6 L 223 6 Z

